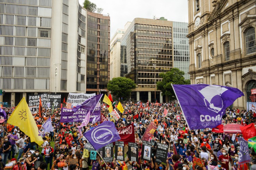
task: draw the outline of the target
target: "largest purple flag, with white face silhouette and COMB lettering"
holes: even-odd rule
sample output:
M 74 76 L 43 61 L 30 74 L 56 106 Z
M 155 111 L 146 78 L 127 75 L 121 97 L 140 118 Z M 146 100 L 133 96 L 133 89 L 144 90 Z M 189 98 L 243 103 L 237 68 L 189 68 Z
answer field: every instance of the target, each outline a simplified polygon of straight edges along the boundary
M 237 88 L 208 85 L 173 85 L 190 129 L 215 128 L 222 123 L 226 107 L 244 96 Z

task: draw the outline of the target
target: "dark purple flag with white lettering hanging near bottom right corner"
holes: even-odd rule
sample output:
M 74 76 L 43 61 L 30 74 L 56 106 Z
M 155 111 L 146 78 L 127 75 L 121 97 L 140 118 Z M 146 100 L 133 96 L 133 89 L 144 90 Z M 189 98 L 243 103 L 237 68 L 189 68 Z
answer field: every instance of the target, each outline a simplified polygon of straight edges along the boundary
M 242 137 L 238 138 L 238 141 L 240 142 L 240 152 L 238 157 L 239 165 L 251 162 L 251 157 L 248 149 L 248 142 L 244 140 L 244 138 Z

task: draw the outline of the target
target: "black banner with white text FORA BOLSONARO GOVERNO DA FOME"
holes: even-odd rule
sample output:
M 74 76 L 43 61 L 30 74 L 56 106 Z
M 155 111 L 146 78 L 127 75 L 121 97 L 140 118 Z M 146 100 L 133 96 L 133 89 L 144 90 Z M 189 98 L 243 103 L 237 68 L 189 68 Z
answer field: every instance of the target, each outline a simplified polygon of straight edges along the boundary
M 40 97 L 41 97 L 43 108 L 48 108 L 47 104 L 50 106 L 54 106 L 54 108 L 60 108 L 61 94 L 50 94 L 50 93 L 29 95 L 28 96 L 28 106 L 29 107 L 35 106 L 38 109 Z

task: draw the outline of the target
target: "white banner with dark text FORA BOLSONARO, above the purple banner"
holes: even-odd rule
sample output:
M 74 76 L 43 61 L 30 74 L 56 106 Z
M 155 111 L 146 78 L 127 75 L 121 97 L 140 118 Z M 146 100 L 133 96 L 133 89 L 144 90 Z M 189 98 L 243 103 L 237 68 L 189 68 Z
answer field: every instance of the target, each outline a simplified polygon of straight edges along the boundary
M 77 106 L 82 104 L 87 99 L 95 96 L 96 94 L 85 94 L 85 93 L 69 93 L 67 103 L 71 103 L 72 106 Z

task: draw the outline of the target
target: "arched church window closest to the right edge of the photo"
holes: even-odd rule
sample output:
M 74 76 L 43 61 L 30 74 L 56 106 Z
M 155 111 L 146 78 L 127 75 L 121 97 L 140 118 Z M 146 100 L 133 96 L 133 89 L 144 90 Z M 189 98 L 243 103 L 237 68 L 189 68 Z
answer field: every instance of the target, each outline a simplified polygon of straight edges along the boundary
M 245 33 L 246 54 L 255 52 L 255 28 L 250 28 Z

